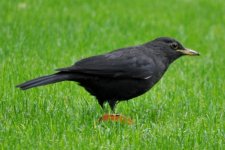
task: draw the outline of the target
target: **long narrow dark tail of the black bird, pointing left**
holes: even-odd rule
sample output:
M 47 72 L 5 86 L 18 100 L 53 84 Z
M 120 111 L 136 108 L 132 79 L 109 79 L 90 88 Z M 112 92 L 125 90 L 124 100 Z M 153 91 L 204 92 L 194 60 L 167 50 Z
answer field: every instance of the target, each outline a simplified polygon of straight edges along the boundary
M 22 84 L 17 85 L 16 87 L 22 90 L 27 90 L 33 87 L 43 86 L 47 84 L 69 80 L 69 79 L 70 79 L 69 74 L 56 73 L 56 74 L 47 75 L 47 76 L 39 77 L 30 81 L 24 82 Z

